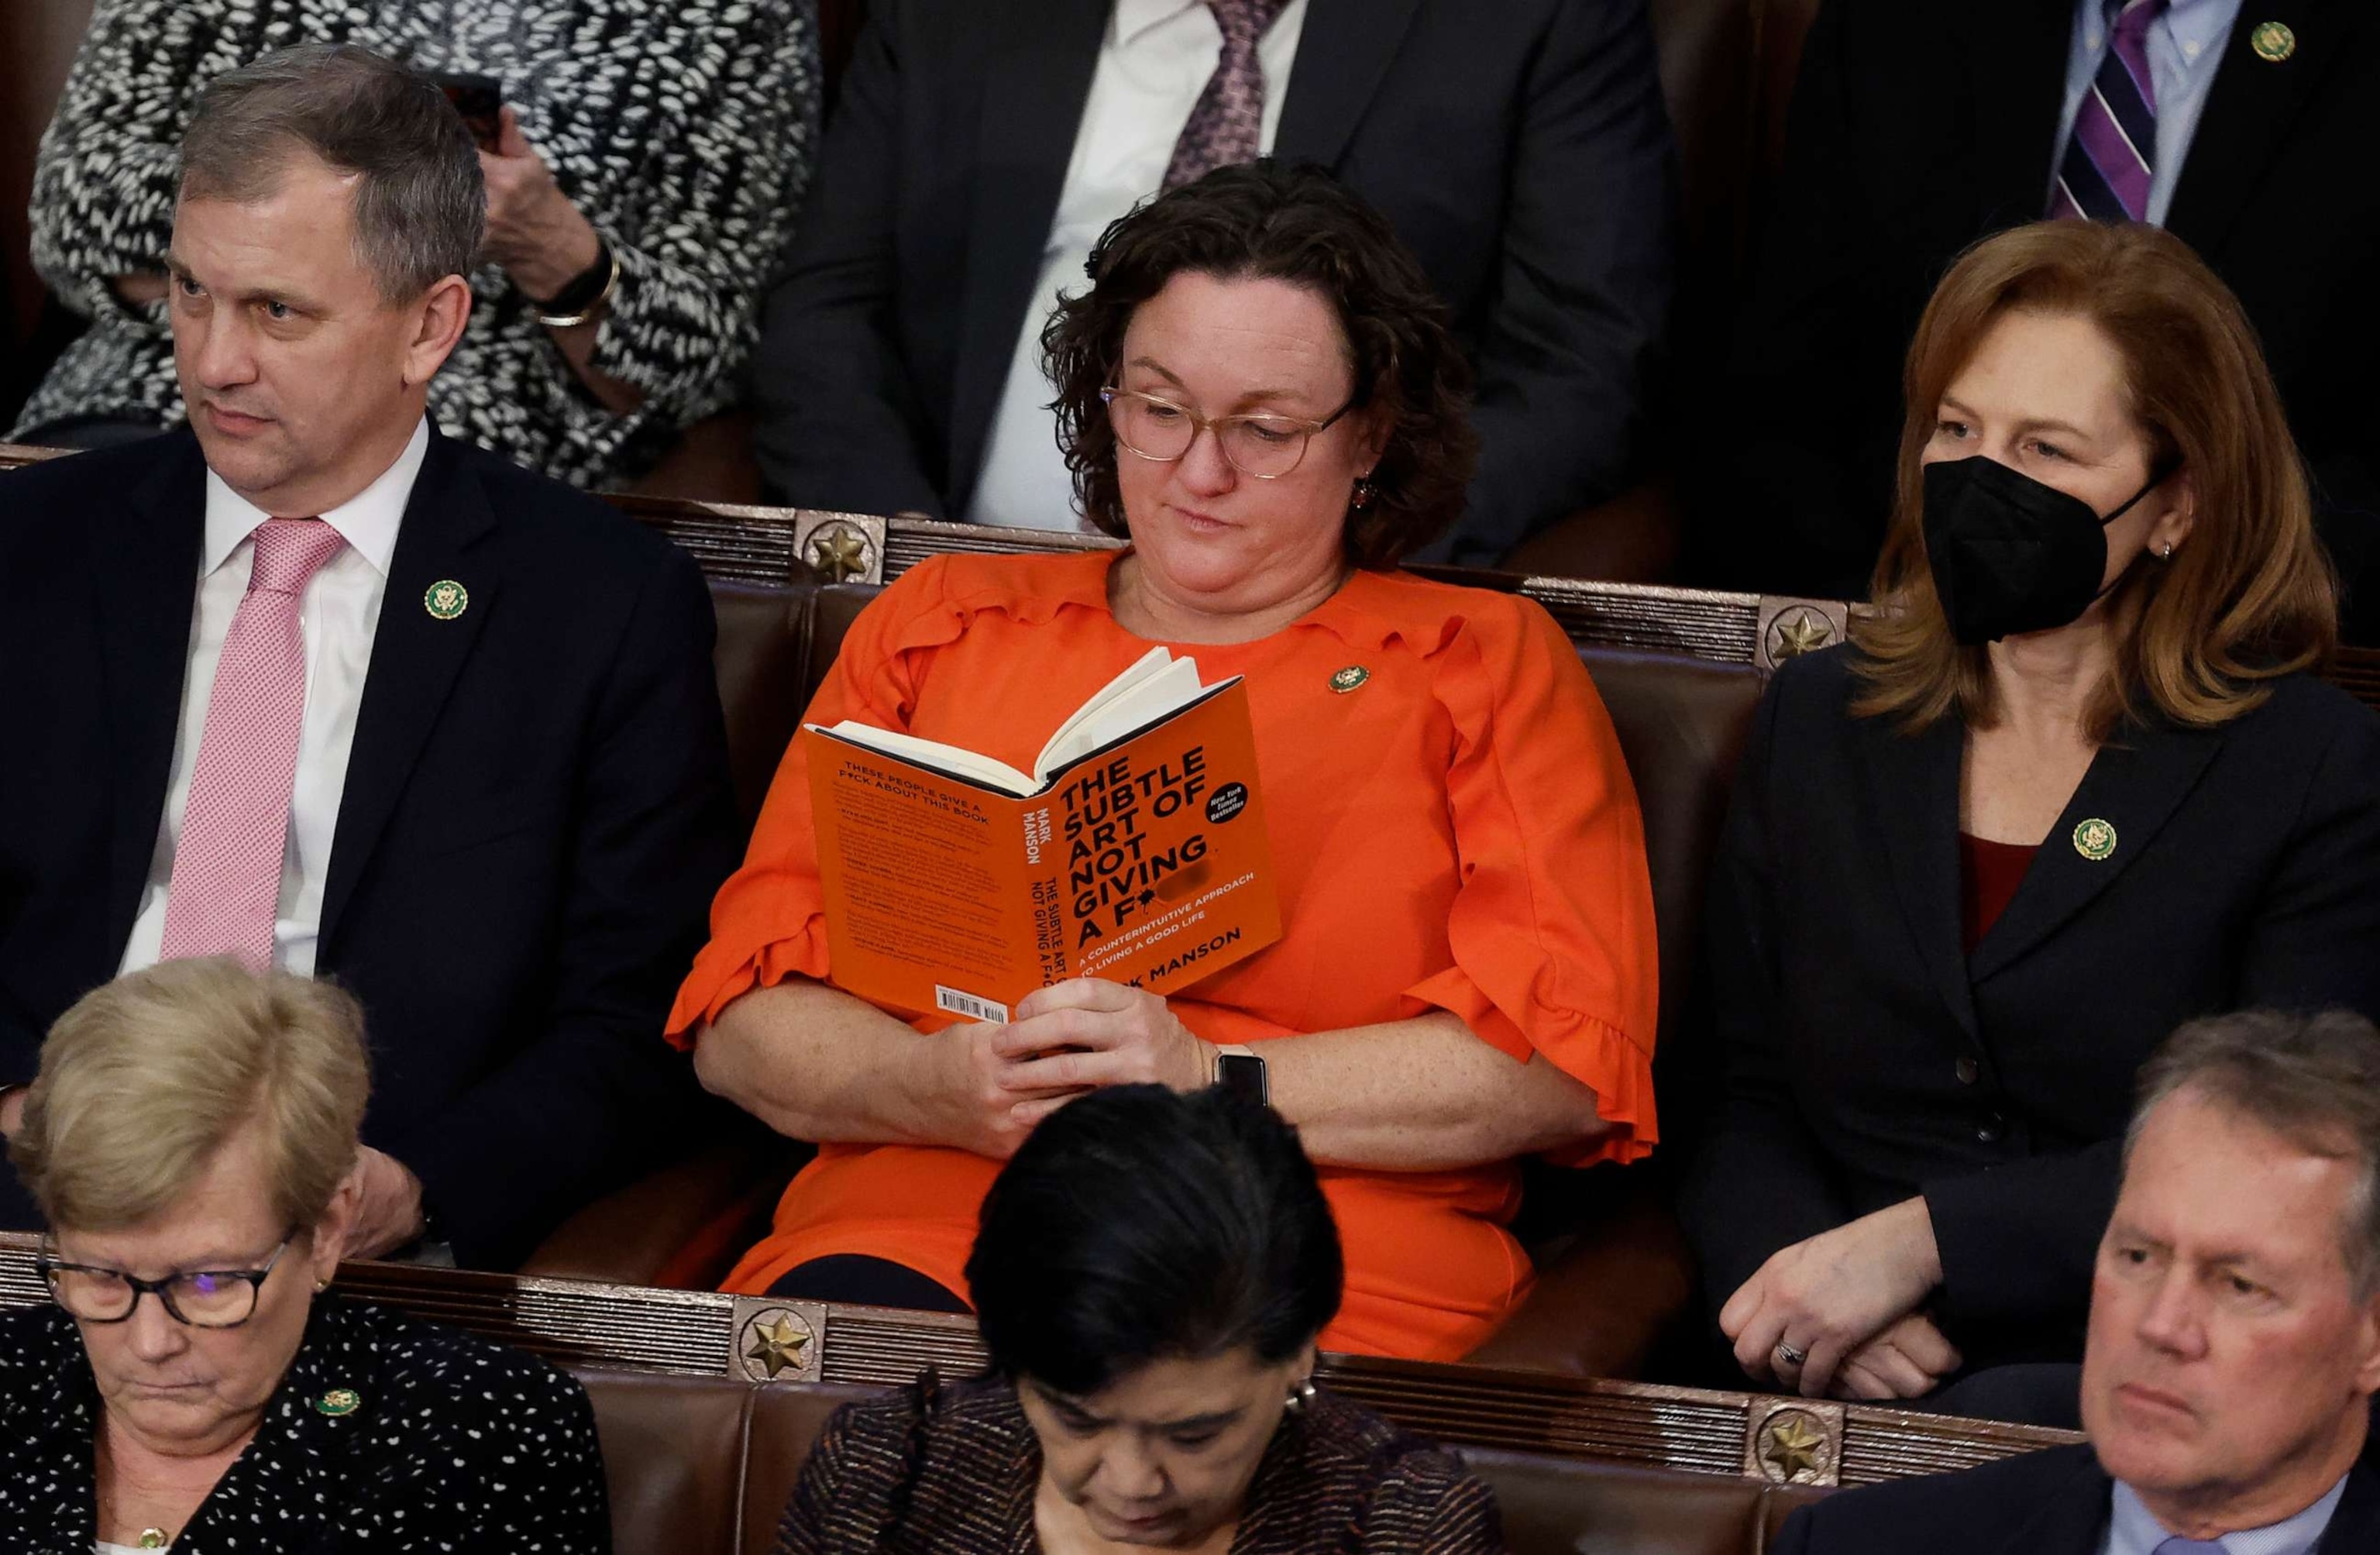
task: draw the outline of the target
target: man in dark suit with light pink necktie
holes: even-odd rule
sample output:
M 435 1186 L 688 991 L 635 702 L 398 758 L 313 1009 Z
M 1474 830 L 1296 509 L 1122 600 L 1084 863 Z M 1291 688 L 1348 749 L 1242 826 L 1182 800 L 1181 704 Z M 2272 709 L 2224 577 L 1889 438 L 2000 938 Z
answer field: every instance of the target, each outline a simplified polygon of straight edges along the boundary
M 0 476 L 0 1088 L 119 972 L 336 976 L 357 1241 L 509 1264 L 683 1138 L 659 1022 L 735 845 L 697 569 L 424 417 L 478 183 L 376 55 L 224 76 L 174 221 L 190 426 Z

